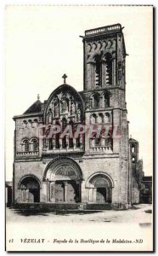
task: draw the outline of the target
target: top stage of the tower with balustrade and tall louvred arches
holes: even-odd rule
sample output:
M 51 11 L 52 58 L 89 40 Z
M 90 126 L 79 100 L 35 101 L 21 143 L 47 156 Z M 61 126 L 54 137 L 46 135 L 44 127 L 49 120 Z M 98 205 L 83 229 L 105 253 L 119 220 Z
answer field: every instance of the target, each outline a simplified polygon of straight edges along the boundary
M 120 24 L 87 30 L 84 44 L 84 90 L 125 89 L 126 49 Z

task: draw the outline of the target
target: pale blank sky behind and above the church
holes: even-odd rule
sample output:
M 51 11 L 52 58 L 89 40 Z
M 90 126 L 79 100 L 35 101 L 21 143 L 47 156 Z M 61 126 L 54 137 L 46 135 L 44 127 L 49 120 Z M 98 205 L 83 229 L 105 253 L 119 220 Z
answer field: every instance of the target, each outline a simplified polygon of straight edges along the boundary
M 146 6 L 15 6 L 5 10 L 6 180 L 12 179 L 14 120 L 37 94 L 43 102 L 67 83 L 83 90 L 82 38 L 87 29 L 121 23 L 127 49 L 127 119 L 139 142 L 145 175 L 152 174 L 152 8 Z

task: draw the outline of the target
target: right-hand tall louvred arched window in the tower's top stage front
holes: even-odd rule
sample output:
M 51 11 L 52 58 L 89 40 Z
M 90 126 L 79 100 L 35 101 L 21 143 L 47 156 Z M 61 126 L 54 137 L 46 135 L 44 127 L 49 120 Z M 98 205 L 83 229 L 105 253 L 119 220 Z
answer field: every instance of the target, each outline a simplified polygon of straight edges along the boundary
M 112 84 L 112 56 L 110 55 L 110 53 L 106 53 L 104 55 L 104 59 L 105 59 L 105 66 L 106 66 L 105 83 Z

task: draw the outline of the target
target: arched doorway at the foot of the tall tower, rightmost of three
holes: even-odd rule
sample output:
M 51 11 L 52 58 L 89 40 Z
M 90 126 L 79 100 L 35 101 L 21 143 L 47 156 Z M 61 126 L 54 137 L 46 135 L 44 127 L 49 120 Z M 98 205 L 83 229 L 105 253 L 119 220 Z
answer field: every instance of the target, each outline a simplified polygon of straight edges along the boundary
M 88 201 L 99 204 L 111 203 L 112 187 L 111 178 L 105 173 L 93 174 L 87 180 Z

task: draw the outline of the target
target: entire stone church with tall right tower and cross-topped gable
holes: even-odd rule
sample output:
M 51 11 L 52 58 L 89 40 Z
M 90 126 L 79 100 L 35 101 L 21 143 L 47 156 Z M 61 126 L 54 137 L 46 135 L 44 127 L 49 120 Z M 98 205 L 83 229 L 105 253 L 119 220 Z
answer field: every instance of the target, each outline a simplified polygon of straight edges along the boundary
M 127 208 L 139 201 L 133 171 L 137 145 L 128 137 L 122 27 L 87 30 L 82 39 L 83 90 L 66 84 L 64 75 L 64 84 L 48 100 L 38 97 L 14 116 L 14 204 Z

